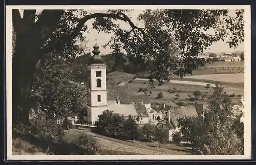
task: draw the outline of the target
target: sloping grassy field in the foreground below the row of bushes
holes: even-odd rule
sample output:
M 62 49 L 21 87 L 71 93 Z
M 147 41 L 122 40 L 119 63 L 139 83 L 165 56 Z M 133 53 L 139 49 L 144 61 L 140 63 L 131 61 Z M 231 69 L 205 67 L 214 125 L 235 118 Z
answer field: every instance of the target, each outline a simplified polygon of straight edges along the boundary
M 189 147 L 182 147 L 175 144 L 161 145 L 158 143 L 146 143 L 134 141 L 133 143 L 106 137 L 91 132 L 90 130 L 70 129 L 65 134 L 65 140 L 72 143 L 79 134 L 86 133 L 94 136 L 102 147 L 102 155 L 186 155 L 190 152 Z

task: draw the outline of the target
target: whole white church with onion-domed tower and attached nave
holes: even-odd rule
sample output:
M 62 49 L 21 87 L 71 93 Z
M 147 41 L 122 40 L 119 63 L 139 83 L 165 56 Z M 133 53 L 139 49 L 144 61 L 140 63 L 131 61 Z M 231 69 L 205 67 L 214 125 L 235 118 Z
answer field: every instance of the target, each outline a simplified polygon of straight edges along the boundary
M 151 107 L 145 96 L 131 96 L 127 85 L 106 86 L 106 64 L 100 57 L 99 46 L 93 46 L 93 56 L 88 66 L 87 122 L 94 124 L 105 110 L 124 117 L 140 117 L 140 123 L 148 123 L 146 108 Z

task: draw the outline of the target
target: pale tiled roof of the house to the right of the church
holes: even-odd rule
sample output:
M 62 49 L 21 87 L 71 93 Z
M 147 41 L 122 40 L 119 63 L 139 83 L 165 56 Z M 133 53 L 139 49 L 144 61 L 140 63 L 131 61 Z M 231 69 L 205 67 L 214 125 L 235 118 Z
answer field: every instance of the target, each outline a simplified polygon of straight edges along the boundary
M 183 117 L 194 117 L 198 116 L 197 110 L 195 106 L 193 105 L 186 105 L 186 106 L 180 106 L 180 107 L 173 107 L 170 108 L 170 115 L 171 115 L 171 123 L 178 127 L 178 119 L 181 119 Z

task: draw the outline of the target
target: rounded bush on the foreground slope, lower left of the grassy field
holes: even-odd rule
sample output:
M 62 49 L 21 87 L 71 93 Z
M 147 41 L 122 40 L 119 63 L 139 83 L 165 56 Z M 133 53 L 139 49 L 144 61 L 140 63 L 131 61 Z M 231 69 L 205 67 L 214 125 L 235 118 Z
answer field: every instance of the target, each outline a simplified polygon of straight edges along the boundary
M 97 140 L 86 134 L 80 134 L 77 142 L 74 142 L 74 144 L 83 150 L 84 155 L 97 155 L 101 152 L 101 148 Z

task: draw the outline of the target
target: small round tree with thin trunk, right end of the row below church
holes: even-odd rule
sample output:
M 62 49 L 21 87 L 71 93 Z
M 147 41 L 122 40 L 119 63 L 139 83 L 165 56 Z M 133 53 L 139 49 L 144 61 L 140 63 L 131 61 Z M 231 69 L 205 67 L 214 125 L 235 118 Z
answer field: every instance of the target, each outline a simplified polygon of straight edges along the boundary
M 159 124 L 156 127 L 154 136 L 155 136 L 155 139 L 159 142 L 159 148 L 160 148 L 161 144 L 167 143 L 167 140 L 168 140 L 168 130 L 164 126 Z

